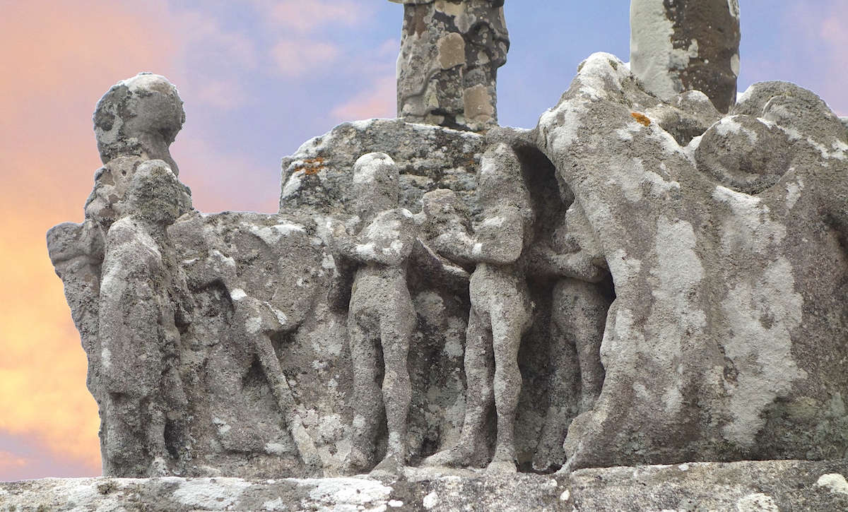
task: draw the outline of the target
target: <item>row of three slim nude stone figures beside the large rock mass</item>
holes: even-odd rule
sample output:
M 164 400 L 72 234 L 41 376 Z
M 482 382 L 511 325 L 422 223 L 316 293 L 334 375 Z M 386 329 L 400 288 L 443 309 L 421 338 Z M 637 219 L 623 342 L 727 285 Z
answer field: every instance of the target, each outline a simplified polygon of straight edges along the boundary
M 381 406 L 388 421 L 388 450 L 372 472 L 397 475 L 406 463 L 404 446 L 410 407 L 407 354 L 416 326 L 416 310 L 407 288 L 405 266 L 413 244 L 444 258 L 445 265 L 473 268 L 468 292 L 471 311 L 466 330 L 465 415 L 460 437 L 423 461 L 429 466 L 466 467 L 488 463 L 497 473 L 516 471 L 516 408 L 522 388 L 518 351 L 533 321 L 527 290 L 528 266 L 536 273 L 561 275 L 555 287 L 553 317 L 559 342 L 577 346 L 582 376 L 581 408 L 590 409 L 600 392 L 600 337 L 608 301 L 593 283 L 605 275 L 603 258 L 575 204 L 562 220 L 561 240 L 539 248 L 534 240 L 534 206 L 522 185 L 521 157 L 507 142 L 494 142 L 483 155 L 477 194 L 482 217 L 473 232 L 468 211 L 455 192 L 438 189 L 422 198 L 421 214 L 397 209 L 398 172 L 388 155 L 369 153 L 354 165 L 356 209 L 365 225 L 358 237 L 330 220 L 329 245 L 339 258 L 358 261 L 349 303 L 349 345 L 354 364 L 354 467 L 372 467 Z M 567 234 L 563 231 L 568 231 Z M 586 286 L 578 284 L 582 280 Z M 569 306 L 578 312 L 565 310 Z M 589 332 L 591 331 L 591 332 Z M 551 343 L 552 347 L 556 342 Z M 382 349 L 382 357 L 375 350 Z M 555 348 L 552 349 L 555 351 Z M 561 351 L 560 351 L 561 352 Z M 377 368 L 379 360 L 385 368 Z M 557 361 L 559 363 L 560 361 Z M 382 395 L 377 387 L 384 372 Z M 555 381 L 558 375 L 551 376 Z M 554 382 L 553 386 L 557 386 Z M 568 391 L 566 391 L 567 393 Z M 494 406 L 497 434 L 489 453 L 487 417 Z M 555 403 L 550 407 L 557 411 Z M 551 412 L 548 437 L 562 443 L 568 416 Z M 557 415 L 557 417 L 553 417 Z M 550 442 L 549 442 L 550 444 Z M 559 466 L 549 461 L 544 470 Z

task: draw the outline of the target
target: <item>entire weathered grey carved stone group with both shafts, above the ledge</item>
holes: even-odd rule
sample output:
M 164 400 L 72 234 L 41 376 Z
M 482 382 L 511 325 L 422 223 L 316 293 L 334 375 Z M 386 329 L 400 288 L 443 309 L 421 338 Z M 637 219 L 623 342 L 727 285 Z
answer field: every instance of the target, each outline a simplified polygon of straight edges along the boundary
M 533 130 L 496 125 L 503 2 L 398 3 L 398 119 L 283 159 L 277 214 L 192 209 L 164 77 L 98 103 L 47 244 L 103 474 L 845 458 L 846 123 L 736 97 L 735 0 L 634 0 L 632 66 L 590 56 Z

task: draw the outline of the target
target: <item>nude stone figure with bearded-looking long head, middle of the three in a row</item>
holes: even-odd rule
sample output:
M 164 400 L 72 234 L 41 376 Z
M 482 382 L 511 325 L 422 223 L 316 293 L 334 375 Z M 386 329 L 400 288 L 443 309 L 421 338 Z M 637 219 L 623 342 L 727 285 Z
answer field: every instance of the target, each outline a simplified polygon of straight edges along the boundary
M 433 247 L 449 259 L 476 264 L 469 285 L 471 314 L 466 331 L 466 415 L 460 441 L 429 457 L 427 465 L 470 465 L 484 447 L 484 425 L 494 403 L 498 417 L 497 442 L 488 470 L 516 470 L 515 414 L 522 375 L 518 348 L 530 326 L 530 299 L 519 258 L 524 249 L 533 210 L 521 185 L 521 164 L 505 143 L 483 156 L 477 192 L 483 221 L 473 237 L 445 232 Z

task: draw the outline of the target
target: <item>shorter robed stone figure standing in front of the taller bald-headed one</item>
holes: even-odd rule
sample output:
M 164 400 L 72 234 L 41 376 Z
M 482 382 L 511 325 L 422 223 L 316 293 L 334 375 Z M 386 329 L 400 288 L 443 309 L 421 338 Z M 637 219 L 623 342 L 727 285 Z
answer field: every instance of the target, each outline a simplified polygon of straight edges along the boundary
M 168 164 L 148 160 L 132 176 L 121 207 L 106 236 L 100 281 L 100 381 L 109 415 L 104 466 L 109 473 L 114 467 L 134 476 L 167 475 L 187 442 L 187 398 L 178 371 L 180 283 L 165 230 L 191 209 L 191 198 Z

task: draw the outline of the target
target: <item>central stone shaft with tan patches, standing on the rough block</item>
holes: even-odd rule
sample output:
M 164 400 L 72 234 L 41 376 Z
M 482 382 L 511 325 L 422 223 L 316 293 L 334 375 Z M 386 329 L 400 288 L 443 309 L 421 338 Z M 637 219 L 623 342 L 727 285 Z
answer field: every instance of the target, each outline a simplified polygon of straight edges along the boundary
M 510 46 L 504 0 L 389 1 L 404 4 L 398 117 L 468 131 L 497 125 L 497 72 Z

